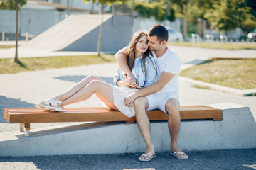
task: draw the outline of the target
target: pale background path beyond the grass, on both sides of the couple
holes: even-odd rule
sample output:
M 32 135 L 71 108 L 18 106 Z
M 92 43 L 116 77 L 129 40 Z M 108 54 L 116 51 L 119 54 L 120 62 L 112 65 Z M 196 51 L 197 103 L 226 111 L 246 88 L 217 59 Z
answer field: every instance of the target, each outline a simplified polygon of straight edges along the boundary
M 18 42 L 18 57 L 49 57 L 49 56 L 66 56 L 66 55 L 91 55 L 97 54 L 96 52 L 65 52 L 57 51 L 52 52 L 49 50 L 42 49 L 29 49 L 23 48 L 22 45 L 26 42 Z M 15 42 L 1 42 L 0 45 L 15 45 Z M 217 50 L 209 48 L 197 48 L 197 47 L 179 47 L 171 46 L 171 49 L 176 51 L 181 57 L 183 64 L 197 64 L 201 60 L 208 60 L 210 58 L 255 58 L 256 50 Z M 115 53 L 115 52 L 104 52 L 104 53 Z M 14 57 L 15 48 L 0 49 L 0 58 Z

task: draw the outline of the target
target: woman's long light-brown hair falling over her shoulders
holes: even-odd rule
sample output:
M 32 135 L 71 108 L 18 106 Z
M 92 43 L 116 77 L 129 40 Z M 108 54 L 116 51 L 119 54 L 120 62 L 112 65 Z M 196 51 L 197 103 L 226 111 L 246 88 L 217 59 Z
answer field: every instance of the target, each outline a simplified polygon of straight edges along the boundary
M 144 30 L 139 30 L 136 33 L 134 33 L 134 35 L 132 36 L 131 42 L 129 42 L 129 46 L 127 47 L 127 50 L 124 51 L 124 54 L 127 55 L 127 64 L 129 66 L 129 69 L 131 69 L 131 70 L 134 67 L 136 44 L 139 41 L 139 39 L 142 38 L 142 36 L 144 36 L 144 35 L 148 36 L 146 31 L 144 31 Z M 152 53 L 151 53 L 151 51 L 149 50 L 149 47 L 148 47 L 148 49 L 146 50 L 146 52 L 144 52 L 144 54 L 142 56 L 142 65 L 141 65 L 141 67 L 142 67 L 142 71 L 144 73 L 146 73 L 145 60 L 146 60 L 146 57 L 149 57 L 149 55 L 152 55 Z M 150 58 L 150 60 L 151 60 L 151 58 Z M 153 64 L 154 64 L 154 62 L 153 62 Z

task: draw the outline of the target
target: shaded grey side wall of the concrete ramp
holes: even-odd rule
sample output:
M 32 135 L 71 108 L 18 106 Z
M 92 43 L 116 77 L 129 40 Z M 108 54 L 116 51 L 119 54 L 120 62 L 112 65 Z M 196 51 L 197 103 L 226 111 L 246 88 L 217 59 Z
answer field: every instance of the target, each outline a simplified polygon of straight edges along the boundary
M 97 51 L 100 26 L 61 51 Z M 102 52 L 117 52 L 132 38 L 132 17 L 114 16 L 105 21 L 102 30 Z

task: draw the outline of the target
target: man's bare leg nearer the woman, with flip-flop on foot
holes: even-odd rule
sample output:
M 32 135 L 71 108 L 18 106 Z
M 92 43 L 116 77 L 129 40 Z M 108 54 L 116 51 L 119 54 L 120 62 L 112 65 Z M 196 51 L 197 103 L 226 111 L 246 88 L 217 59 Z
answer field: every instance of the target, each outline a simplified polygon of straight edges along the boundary
M 137 125 L 139 130 L 142 132 L 142 137 L 146 143 L 146 152 L 144 154 L 151 153 L 155 155 L 154 145 L 151 139 L 150 121 L 148 115 L 146 114 L 146 108 L 148 108 L 148 105 L 149 104 L 146 97 L 139 97 L 134 101 Z M 142 159 L 149 159 L 150 157 L 150 154 L 148 154 L 147 157 L 143 155 L 141 156 Z

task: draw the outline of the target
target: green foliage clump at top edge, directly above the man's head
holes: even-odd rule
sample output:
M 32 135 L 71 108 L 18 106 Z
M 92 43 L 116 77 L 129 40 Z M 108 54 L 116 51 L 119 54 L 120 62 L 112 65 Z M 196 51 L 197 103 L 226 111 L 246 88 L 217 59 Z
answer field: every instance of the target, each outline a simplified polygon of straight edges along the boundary
M 154 16 L 157 21 L 175 20 L 175 11 L 169 8 L 169 16 L 166 16 L 166 2 L 164 1 L 135 1 L 135 11 L 145 18 Z

